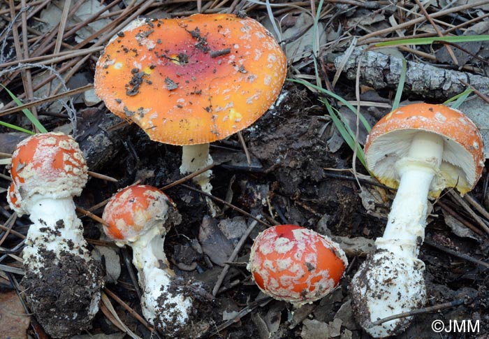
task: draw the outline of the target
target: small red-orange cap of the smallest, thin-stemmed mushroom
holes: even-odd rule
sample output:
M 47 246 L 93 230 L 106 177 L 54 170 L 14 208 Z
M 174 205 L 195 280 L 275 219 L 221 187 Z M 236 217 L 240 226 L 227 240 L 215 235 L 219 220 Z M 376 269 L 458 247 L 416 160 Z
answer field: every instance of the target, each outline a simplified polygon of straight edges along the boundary
M 164 224 L 173 203 L 156 187 L 129 186 L 117 192 L 105 205 L 103 231 L 113 240 L 136 241 L 155 226 Z

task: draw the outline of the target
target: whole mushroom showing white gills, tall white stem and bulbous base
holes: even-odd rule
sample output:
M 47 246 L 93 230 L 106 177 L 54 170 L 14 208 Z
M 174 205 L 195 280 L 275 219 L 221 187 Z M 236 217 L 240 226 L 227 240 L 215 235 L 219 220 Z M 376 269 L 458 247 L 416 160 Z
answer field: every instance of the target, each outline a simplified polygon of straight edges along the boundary
M 468 117 L 443 105 L 398 108 L 374 126 L 365 144 L 369 171 L 397 188 L 384 236 L 351 281 L 353 312 L 371 336 L 401 333 L 412 317 L 372 322 L 423 307 L 425 265 L 418 252 L 425 238 L 428 196 L 446 187 L 469 192 L 483 170 L 483 143 Z

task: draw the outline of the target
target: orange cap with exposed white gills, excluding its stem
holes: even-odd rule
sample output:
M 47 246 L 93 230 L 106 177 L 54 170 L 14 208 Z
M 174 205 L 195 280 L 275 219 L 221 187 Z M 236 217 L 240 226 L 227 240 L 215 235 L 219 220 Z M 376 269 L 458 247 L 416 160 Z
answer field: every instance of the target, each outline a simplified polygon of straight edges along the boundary
M 394 164 L 407 153 L 418 131 L 435 133 L 444 139 L 443 159 L 430 196 L 436 198 L 446 187 L 455 187 L 460 194 L 474 188 L 484 168 L 481 134 L 466 115 L 444 105 L 413 103 L 382 117 L 365 143 L 369 171 L 384 185 L 399 187 Z

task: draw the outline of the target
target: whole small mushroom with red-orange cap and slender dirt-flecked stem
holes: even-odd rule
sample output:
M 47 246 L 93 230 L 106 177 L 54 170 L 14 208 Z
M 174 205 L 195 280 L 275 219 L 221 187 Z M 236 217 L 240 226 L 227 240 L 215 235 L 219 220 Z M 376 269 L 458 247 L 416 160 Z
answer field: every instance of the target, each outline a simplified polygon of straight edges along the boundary
M 143 315 L 171 337 L 189 336 L 194 310 L 190 287 L 175 276 L 163 252 L 166 232 L 173 224 L 180 224 L 180 219 L 168 196 L 147 185 L 122 189 L 103 210 L 105 234 L 118 246 L 133 249 L 133 265 L 143 289 Z

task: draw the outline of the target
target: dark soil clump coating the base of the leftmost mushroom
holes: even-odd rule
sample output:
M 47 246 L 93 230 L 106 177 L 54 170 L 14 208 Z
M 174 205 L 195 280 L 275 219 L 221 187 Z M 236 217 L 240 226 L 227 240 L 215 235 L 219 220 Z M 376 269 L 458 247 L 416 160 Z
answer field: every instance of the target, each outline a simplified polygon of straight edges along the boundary
M 89 329 L 89 305 L 101 285 L 99 264 L 68 252 L 58 259 L 52 251 L 40 252 L 44 265 L 38 273 L 26 271 L 21 282 L 29 308 L 53 338 Z

